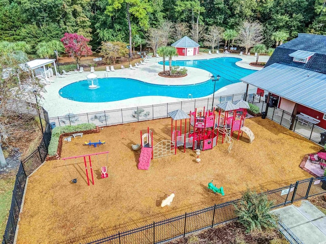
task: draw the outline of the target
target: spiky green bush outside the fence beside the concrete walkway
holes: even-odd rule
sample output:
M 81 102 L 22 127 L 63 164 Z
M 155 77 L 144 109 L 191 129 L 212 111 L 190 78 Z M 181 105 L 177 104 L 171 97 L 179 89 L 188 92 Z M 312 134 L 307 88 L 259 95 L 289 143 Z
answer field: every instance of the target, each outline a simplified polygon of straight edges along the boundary
M 270 213 L 273 202 L 268 201 L 265 193 L 257 194 L 255 191 L 247 190 L 238 205 L 233 205 L 237 221 L 247 229 L 247 233 L 276 228 L 276 216 Z

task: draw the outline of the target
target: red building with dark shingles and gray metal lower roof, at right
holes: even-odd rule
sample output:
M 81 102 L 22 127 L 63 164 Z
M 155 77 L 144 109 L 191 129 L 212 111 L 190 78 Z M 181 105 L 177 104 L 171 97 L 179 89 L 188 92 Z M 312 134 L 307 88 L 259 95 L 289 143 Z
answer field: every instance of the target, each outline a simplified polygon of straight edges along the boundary
M 326 36 L 298 34 L 275 49 L 264 69 L 240 80 L 292 114 L 292 126 L 295 116 L 304 114 L 326 129 Z

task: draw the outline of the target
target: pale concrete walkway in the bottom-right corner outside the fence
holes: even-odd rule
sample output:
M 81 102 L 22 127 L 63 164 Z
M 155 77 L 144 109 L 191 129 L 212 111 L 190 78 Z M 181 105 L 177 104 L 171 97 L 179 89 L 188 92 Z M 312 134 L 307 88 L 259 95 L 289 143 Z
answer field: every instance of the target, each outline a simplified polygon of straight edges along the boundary
M 326 244 L 326 216 L 309 201 L 302 201 L 300 207 L 290 205 L 271 212 L 304 244 Z

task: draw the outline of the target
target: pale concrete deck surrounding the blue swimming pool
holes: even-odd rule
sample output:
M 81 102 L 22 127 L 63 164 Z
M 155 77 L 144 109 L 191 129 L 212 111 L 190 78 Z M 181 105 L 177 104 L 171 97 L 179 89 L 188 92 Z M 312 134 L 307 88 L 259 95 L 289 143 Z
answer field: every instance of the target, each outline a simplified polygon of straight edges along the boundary
M 216 58 L 216 57 L 224 57 L 224 54 L 211 54 L 208 55 L 206 53 L 200 53 L 196 56 L 178 56 L 173 58 L 173 60 L 196 60 L 196 59 L 207 59 L 207 58 Z M 238 54 L 226 54 L 226 57 L 239 57 L 242 60 L 237 62 L 241 68 L 252 69 L 252 70 L 260 70 L 261 68 L 250 66 L 249 63 L 255 62 L 256 57 L 254 55 L 247 56 Z M 267 62 L 269 56 L 260 56 L 260 62 Z M 95 74 L 98 78 L 104 78 L 104 75 L 108 77 L 122 77 L 122 78 L 133 78 L 138 79 L 144 82 L 152 83 L 152 84 L 164 84 L 164 85 L 186 85 L 186 84 L 196 84 L 201 83 L 210 78 L 210 73 L 197 68 L 186 67 L 188 70 L 188 75 L 182 78 L 164 78 L 158 76 L 158 73 L 163 70 L 163 66 L 159 65 L 158 62 L 161 61 L 162 58 L 152 57 L 149 60 L 149 63 L 146 65 L 141 65 L 140 69 L 130 70 L 116 70 L 115 72 L 105 72 L 105 71 L 96 71 Z M 169 66 L 166 67 L 169 69 Z M 50 117 L 61 116 L 67 113 L 86 113 L 86 112 L 96 112 L 102 110 L 111 110 L 111 109 L 121 109 L 121 108 L 130 108 L 137 106 L 146 106 L 152 104 L 161 104 L 161 103 L 171 103 L 171 102 L 179 102 L 187 99 L 181 98 L 172 98 L 172 97 L 164 97 L 164 96 L 146 96 L 146 97 L 137 97 L 130 98 L 116 102 L 104 102 L 104 103 L 85 103 L 85 102 L 76 102 L 72 100 L 68 100 L 62 98 L 59 95 L 59 90 L 70 83 L 85 80 L 86 76 L 90 74 L 90 72 L 84 73 L 72 73 L 71 75 L 65 78 L 54 78 L 53 83 L 50 85 L 46 85 L 46 93 L 43 94 L 43 99 L 41 101 L 44 109 L 48 111 Z M 246 92 L 246 84 L 244 83 L 236 83 L 227 85 L 222 87 L 218 91 L 215 92 L 215 96 L 225 96 L 237 93 Z M 206 97 L 211 97 L 206 96 Z M 203 97 L 205 98 L 205 97 Z

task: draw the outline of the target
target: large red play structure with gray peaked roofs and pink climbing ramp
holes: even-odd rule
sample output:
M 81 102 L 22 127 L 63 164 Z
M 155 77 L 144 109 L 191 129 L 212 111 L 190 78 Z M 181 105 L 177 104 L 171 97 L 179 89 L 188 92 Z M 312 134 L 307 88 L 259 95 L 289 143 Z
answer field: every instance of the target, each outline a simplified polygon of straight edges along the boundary
M 183 146 L 184 152 L 186 148 L 212 149 L 216 146 L 219 135 L 222 135 L 222 144 L 224 141 L 229 143 L 229 153 L 234 143 L 234 132 L 237 132 L 237 140 L 244 132 L 252 142 L 255 139 L 254 134 L 248 127 L 244 127 L 248 108 L 247 102 L 239 100 L 219 104 L 218 113 L 215 108 L 205 111 L 205 107 L 196 108 L 189 113 L 190 116 L 179 109 L 168 113 L 171 117 L 171 140 L 162 140 L 153 146 L 153 133 L 147 128 L 147 133 L 141 132 L 141 144 L 131 146 L 133 150 L 141 148 L 138 169 L 147 170 L 151 159 L 176 154 L 177 147 L 180 146 Z M 199 163 L 200 159 L 196 161 Z

